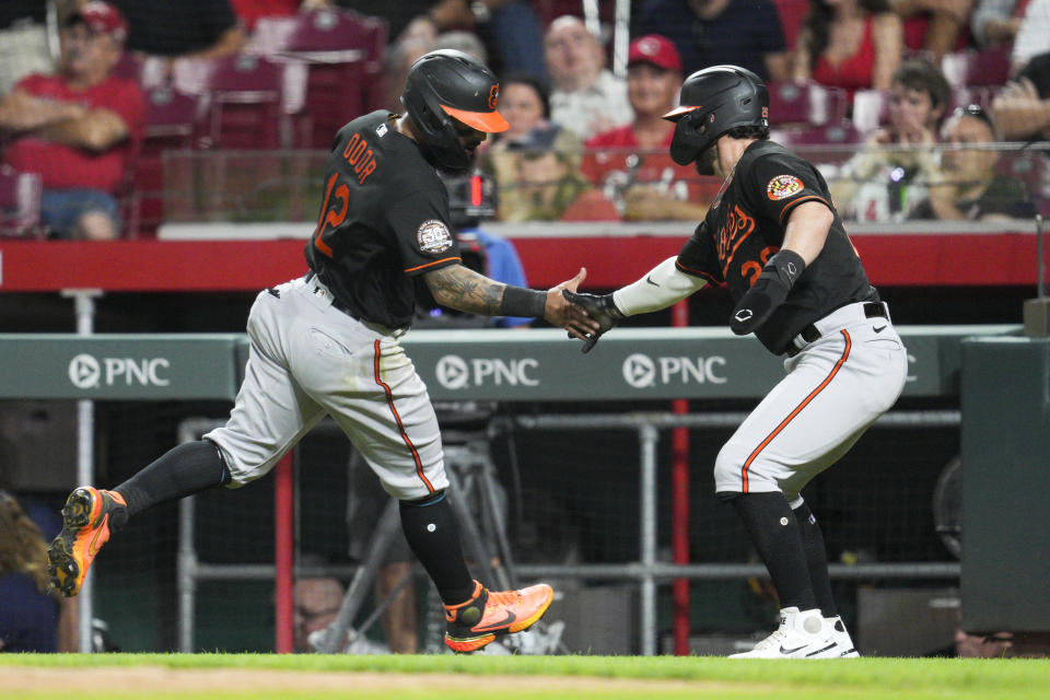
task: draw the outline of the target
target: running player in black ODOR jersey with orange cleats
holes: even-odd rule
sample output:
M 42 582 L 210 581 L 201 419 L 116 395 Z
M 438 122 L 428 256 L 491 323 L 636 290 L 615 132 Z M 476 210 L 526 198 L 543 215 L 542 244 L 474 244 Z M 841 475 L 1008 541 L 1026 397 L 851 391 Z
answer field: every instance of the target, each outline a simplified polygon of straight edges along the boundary
M 445 603 L 445 643 L 481 649 L 542 616 L 552 591 L 493 592 L 471 579 L 445 498 L 441 432 L 427 387 L 399 338 L 418 282 L 445 306 L 546 318 L 583 339 L 598 324 L 561 294 L 495 282 L 460 264 L 438 170 L 467 170 L 475 149 L 508 125 L 499 83 L 482 63 L 433 51 L 411 68 L 405 114 L 374 112 L 336 135 L 310 272 L 261 292 L 248 315 L 250 354 L 229 421 L 105 491 L 81 487 L 48 548 L 55 585 L 75 595 L 110 529 L 161 501 L 267 474 L 326 415 L 400 500 L 401 525 Z

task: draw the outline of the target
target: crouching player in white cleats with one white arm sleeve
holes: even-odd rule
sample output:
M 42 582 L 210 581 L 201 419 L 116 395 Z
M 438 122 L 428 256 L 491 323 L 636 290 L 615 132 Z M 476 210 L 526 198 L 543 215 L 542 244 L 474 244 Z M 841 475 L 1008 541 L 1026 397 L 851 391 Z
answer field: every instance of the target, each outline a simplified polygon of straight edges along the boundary
M 744 658 L 856 656 L 831 598 L 824 537 L 802 488 L 842 456 L 897 400 L 903 343 L 868 283 L 827 184 L 810 163 L 769 141 L 769 93 L 735 66 L 681 86 L 670 155 L 725 180 L 677 257 L 611 294 L 565 292 L 600 322 L 665 308 L 705 283 L 726 284 L 730 328 L 784 355 L 770 390 L 714 465 L 780 597 L 780 627 Z

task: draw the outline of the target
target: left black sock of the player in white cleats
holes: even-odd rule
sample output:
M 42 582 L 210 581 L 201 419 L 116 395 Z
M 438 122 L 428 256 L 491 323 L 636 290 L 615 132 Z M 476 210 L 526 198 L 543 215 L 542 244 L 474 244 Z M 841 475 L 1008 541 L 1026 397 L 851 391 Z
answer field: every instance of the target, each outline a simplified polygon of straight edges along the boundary
M 817 607 L 798 523 L 784 494 L 743 493 L 733 499 L 733 508 L 769 570 L 780 596 L 780 607 L 795 606 L 800 610 Z

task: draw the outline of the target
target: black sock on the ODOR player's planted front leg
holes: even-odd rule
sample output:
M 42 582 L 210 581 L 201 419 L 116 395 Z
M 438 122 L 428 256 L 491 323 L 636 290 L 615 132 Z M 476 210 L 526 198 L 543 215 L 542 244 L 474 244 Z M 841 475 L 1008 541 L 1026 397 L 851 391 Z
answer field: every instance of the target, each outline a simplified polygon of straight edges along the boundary
M 459 532 L 444 493 L 425 501 L 401 501 L 401 529 L 445 605 L 474 594 L 474 579 L 459 548 Z

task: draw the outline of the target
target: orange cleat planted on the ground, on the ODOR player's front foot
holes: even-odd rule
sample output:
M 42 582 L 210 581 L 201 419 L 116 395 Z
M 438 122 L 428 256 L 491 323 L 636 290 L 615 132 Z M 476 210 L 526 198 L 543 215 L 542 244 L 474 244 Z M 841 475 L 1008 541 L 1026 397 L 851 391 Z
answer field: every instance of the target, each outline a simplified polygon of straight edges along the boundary
M 474 582 L 474 595 L 445 606 L 445 644 L 455 652 L 476 652 L 497 637 L 521 632 L 542 617 L 555 592 L 546 583 L 520 591 L 489 591 Z

